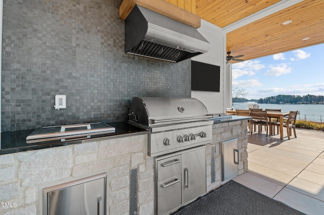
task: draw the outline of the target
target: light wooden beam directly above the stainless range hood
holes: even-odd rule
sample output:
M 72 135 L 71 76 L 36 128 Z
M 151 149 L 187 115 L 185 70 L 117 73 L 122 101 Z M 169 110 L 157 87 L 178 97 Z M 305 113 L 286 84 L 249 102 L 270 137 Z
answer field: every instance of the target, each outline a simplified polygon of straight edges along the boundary
M 200 27 L 200 17 L 198 15 L 190 13 L 165 0 L 124 0 L 119 7 L 119 18 L 126 20 L 135 5 L 142 6 L 143 8 L 170 17 L 194 28 Z

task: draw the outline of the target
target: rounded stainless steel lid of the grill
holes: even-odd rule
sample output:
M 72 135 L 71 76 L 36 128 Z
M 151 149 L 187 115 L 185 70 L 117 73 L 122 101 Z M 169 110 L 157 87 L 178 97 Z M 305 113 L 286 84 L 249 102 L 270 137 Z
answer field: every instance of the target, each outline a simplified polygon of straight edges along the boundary
M 196 98 L 133 97 L 131 122 L 144 126 L 207 120 L 212 117 Z

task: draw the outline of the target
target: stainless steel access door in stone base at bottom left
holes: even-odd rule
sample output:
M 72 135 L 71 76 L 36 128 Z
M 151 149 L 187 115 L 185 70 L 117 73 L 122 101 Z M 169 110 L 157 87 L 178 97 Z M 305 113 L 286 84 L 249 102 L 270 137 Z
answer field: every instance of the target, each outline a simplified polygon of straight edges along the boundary
M 105 205 L 105 179 L 47 193 L 49 215 L 102 215 Z

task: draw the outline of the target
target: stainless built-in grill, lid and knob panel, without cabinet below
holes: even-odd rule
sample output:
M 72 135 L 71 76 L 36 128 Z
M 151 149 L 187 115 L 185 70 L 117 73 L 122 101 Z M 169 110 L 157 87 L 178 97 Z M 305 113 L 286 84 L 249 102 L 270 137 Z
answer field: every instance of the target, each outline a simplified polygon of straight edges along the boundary
M 149 131 L 148 155 L 158 156 L 212 140 L 206 106 L 195 98 L 133 97 L 130 124 Z

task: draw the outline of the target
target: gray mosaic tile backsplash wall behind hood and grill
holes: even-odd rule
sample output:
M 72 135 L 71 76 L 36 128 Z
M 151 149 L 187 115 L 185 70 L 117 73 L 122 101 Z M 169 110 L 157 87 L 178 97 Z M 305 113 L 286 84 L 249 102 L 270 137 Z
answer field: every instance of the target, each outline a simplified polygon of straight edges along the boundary
M 2 131 L 123 122 L 133 96 L 190 97 L 190 60 L 124 52 L 122 0 L 4 0 Z M 55 110 L 55 95 L 67 108 Z

